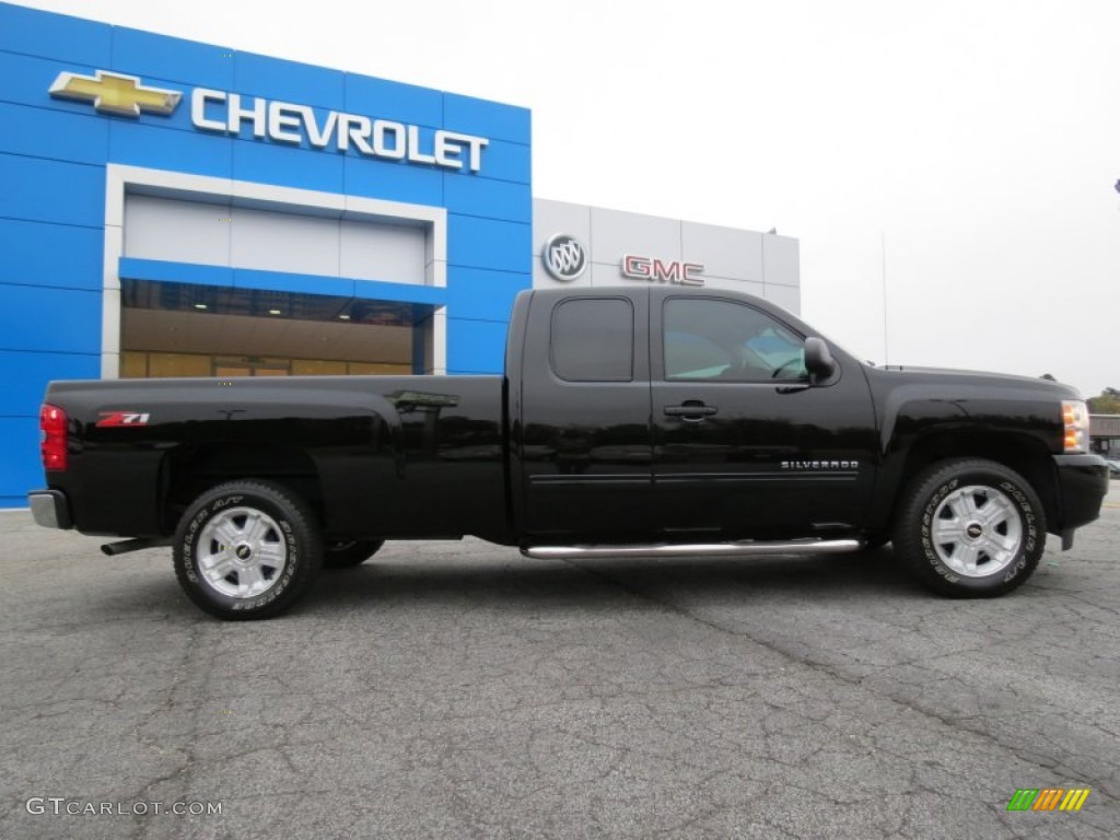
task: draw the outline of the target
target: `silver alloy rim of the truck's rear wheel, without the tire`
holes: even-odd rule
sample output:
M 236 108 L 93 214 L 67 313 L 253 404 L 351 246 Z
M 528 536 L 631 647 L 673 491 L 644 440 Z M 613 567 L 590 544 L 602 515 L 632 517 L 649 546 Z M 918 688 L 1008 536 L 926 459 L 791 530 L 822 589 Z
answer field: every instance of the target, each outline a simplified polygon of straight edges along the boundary
M 203 579 L 231 598 L 255 598 L 280 580 L 288 545 L 276 520 L 254 507 L 231 507 L 203 528 L 195 548 Z

